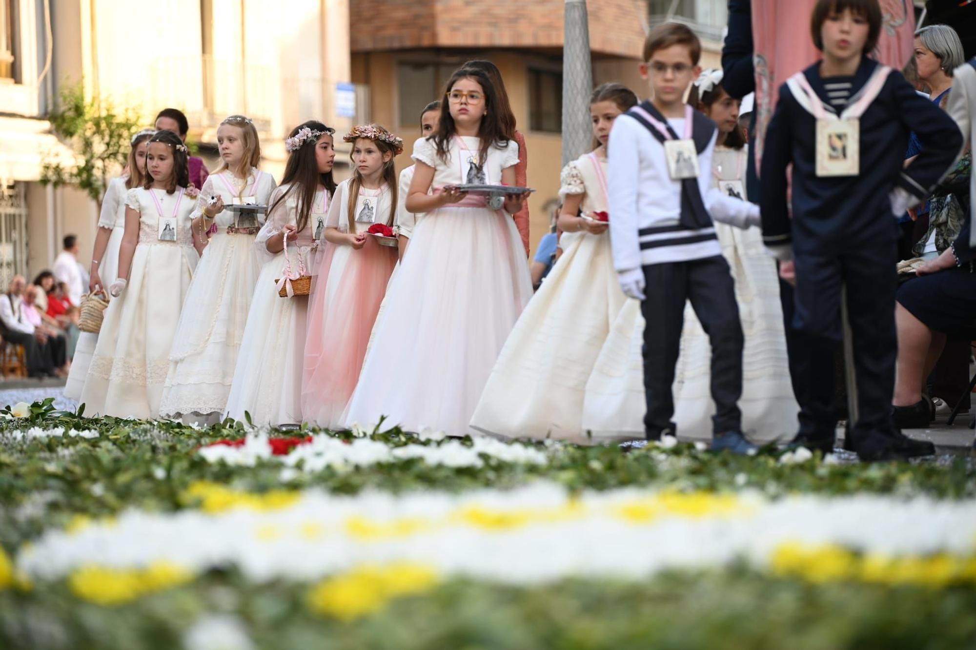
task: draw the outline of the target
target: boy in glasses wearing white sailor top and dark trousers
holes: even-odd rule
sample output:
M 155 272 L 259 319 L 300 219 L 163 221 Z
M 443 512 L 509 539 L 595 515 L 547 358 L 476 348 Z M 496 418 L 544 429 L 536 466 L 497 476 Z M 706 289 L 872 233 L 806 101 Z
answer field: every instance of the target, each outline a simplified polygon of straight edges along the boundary
M 742 323 L 712 217 L 749 227 L 758 208 L 712 188 L 714 122 L 684 103 L 701 72 L 701 43 L 666 22 L 644 43 L 641 75 L 653 102 L 621 115 L 607 147 L 610 243 L 621 288 L 641 301 L 648 439 L 675 434 L 671 385 L 687 301 L 712 344 L 712 449 L 755 451 L 742 435 Z M 645 296 L 646 293 L 646 296 Z

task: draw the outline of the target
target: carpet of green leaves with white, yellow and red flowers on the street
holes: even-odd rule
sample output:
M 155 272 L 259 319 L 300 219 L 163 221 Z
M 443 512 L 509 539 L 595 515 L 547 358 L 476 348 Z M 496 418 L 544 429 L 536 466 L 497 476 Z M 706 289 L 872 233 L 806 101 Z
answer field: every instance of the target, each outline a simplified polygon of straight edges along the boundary
M 0 413 L 3 648 L 959 648 L 976 467 Z

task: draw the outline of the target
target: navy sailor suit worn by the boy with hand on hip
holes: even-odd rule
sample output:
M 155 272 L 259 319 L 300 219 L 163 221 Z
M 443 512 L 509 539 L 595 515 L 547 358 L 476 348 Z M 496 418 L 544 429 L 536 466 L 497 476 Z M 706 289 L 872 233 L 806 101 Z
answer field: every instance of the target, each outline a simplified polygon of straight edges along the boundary
M 891 431 L 896 217 L 924 199 L 961 145 L 959 130 L 945 112 L 918 96 L 900 72 L 881 69 L 876 61 L 865 58 L 853 77 L 824 80 L 819 63 L 802 75 L 823 110 L 836 115 L 843 106 L 832 105 L 834 89 L 849 82 L 850 106 L 864 96 L 873 75 L 883 73 L 883 85 L 860 116 L 857 176 L 817 176 L 816 118 L 796 80 L 780 88 L 760 174 L 763 241 L 778 258 L 792 254 L 795 262 L 793 324 L 804 338 L 798 365 L 810 375 L 806 394 L 796 396 L 799 433 L 815 439 L 834 436 L 833 367 L 818 359 L 832 358 L 841 340 L 840 295 L 846 285 L 860 411 L 853 427 L 855 449 L 859 439 Z M 903 170 L 911 131 L 924 150 Z M 792 219 L 787 201 L 791 164 Z

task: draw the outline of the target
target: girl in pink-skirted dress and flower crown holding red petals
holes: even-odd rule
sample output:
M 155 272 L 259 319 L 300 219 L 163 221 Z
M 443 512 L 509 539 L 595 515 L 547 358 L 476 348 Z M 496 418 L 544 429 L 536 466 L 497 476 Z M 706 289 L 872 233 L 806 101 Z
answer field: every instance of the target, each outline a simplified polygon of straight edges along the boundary
M 393 224 L 393 158 L 403 141 L 374 124 L 355 127 L 343 140 L 352 143 L 352 178 L 336 188 L 322 233 L 334 248 L 312 291 L 302 382 L 303 419 L 324 428 L 340 426 L 397 259 L 395 238 L 367 231 Z

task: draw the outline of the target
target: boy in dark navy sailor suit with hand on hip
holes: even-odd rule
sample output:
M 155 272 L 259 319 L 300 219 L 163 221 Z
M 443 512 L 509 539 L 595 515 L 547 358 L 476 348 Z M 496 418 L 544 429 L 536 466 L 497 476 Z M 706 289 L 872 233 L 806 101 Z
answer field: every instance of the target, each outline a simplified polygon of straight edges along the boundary
M 781 87 L 760 174 L 763 240 L 779 260 L 793 260 L 798 366 L 811 375 L 806 394 L 796 395 L 794 442 L 825 453 L 834 447 L 834 378 L 816 360 L 830 358 L 841 340 L 846 285 L 859 410 L 852 442 L 866 461 L 933 451 L 891 423 L 896 217 L 946 173 L 961 142 L 946 113 L 916 95 L 900 72 L 865 56 L 880 26 L 877 0 L 819 0 L 811 30 L 824 59 Z M 903 170 L 913 130 L 924 151 Z M 791 264 L 784 266 L 788 274 Z

